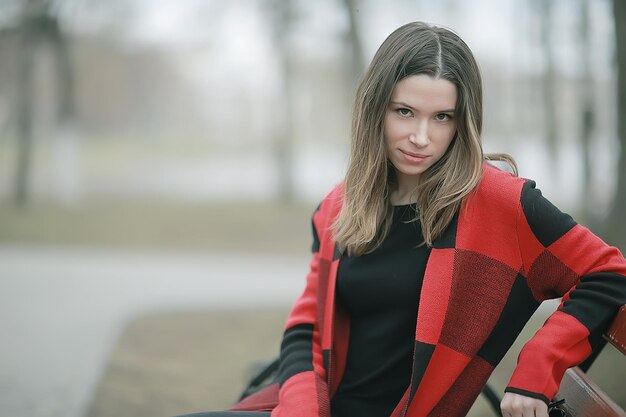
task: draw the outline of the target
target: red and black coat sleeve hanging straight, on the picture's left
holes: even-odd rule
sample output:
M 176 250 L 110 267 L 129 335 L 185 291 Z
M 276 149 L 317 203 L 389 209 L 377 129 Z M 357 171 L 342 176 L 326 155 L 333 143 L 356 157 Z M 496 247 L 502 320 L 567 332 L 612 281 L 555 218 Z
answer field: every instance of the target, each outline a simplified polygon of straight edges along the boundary
M 323 205 L 324 203 L 322 203 Z M 313 215 L 313 258 L 306 287 L 289 313 L 280 349 L 278 406 L 272 417 L 329 417 L 329 395 L 318 323 L 320 239 L 323 213 Z

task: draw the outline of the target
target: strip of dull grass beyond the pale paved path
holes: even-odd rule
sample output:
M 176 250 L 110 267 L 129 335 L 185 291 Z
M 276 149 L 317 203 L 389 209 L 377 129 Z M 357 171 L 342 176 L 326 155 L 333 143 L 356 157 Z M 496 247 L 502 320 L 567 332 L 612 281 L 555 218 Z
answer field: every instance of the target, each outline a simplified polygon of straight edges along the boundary
M 0 243 L 306 254 L 312 204 L 0 205 Z

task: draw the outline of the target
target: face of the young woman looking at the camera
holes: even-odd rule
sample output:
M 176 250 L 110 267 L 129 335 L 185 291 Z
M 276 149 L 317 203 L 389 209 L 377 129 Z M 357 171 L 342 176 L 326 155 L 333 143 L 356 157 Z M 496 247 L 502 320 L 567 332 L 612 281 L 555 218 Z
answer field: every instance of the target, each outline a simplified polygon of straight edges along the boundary
M 456 86 L 443 78 L 410 75 L 394 87 L 384 137 L 400 191 L 413 190 L 419 176 L 445 154 L 456 133 L 456 101 Z

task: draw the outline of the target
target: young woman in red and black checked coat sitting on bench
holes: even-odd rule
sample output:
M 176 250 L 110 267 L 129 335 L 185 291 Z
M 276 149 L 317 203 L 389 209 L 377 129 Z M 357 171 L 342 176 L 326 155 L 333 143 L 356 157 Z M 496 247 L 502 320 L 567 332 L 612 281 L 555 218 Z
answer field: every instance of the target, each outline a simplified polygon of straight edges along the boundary
M 211 416 L 464 416 L 546 299 L 510 417 L 547 417 L 626 302 L 626 261 L 484 155 L 482 87 L 453 32 L 410 23 L 382 44 L 355 103 L 345 181 L 313 215 L 307 285 L 278 381 Z M 257 411 L 253 411 L 257 410 Z

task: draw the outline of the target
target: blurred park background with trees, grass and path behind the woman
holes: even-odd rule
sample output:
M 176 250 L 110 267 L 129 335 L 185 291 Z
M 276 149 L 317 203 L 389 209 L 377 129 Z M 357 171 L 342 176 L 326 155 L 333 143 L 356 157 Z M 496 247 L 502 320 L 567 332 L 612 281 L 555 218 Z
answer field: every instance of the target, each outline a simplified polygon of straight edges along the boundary
M 474 51 L 486 151 L 624 250 L 621 0 L 0 0 L 0 414 L 236 400 L 304 284 L 359 77 L 414 20 Z

